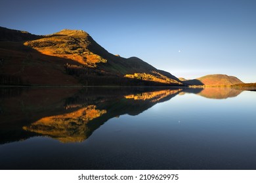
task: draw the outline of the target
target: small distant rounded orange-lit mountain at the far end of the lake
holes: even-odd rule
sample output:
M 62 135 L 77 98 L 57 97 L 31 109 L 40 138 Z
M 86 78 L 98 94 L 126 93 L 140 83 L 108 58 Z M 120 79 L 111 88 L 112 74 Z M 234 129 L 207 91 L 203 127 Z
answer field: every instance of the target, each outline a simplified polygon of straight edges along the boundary
M 200 86 L 231 86 L 233 84 L 242 84 L 243 82 L 235 76 L 228 75 L 206 75 L 194 80 L 185 80 L 182 82 L 188 85 L 200 85 Z

